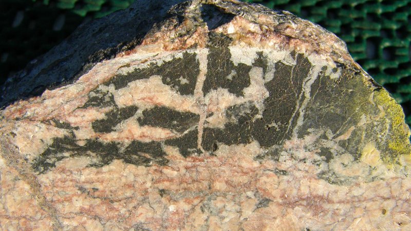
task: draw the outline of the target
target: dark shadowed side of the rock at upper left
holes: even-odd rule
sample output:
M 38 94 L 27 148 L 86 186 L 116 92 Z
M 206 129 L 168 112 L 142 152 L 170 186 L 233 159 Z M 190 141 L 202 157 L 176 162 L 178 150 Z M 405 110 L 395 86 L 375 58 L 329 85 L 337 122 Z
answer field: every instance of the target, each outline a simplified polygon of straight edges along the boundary
M 183 0 L 137 0 L 129 8 L 80 25 L 60 45 L 1 86 L 0 108 L 78 80 L 96 63 L 133 49 L 172 5 Z

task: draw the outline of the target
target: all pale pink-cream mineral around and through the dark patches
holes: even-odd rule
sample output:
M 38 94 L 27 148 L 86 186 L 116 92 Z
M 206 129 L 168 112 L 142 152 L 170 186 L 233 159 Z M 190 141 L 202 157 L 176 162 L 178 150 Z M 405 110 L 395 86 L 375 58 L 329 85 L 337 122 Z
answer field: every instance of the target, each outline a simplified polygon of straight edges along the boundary
M 241 51 L 240 51 L 241 50 Z M 231 47 L 230 51 L 247 54 L 238 63 L 252 63 L 257 55 L 255 49 Z M 75 90 L 86 97 L 90 89 L 95 89 L 107 76 L 127 73 L 150 63 L 161 63 L 181 56 L 181 52 L 153 57 L 154 54 L 138 53 L 117 57 L 95 68 L 110 73 L 97 75 L 97 70 L 80 78 L 82 85 L 49 91 L 42 97 L 46 104 L 37 102 L 37 109 L 27 107 L 10 111 L 28 113 L 34 118 L 48 118 L 51 114 L 78 127 L 73 130 L 78 145 L 87 139 L 99 138 L 103 142 L 123 141 L 124 146 L 133 140 L 152 141 L 181 136 L 164 128 L 140 126 L 136 120 L 141 110 L 155 105 L 166 106 L 178 111 L 188 111 L 200 115 L 197 125 L 201 137 L 204 126 L 222 128 L 227 122 L 225 111 L 228 107 L 247 103 L 254 104 L 261 111 L 262 102 L 269 96 L 264 84 L 275 78 L 273 63 L 281 61 L 295 65 L 289 51 L 263 50 L 269 61 L 268 73 L 253 67 L 250 71 L 250 86 L 244 89 L 244 97 L 237 97 L 227 89 L 211 90 L 203 96 L 202 84 L 207 71 L 207 49 L 191 50 L 197 53 L 200 62 L 194 95 L 180 95 L 161 81 L 161 76 L 153 75 L 145 80 L 136 80 L 126 87 L 116 89 L 114 85 L 100 87 L 110 92 L 120 108 L 137 106 L 139 111 L 128 120 L 115 127 L 110 133 L 96 133 L 91 123 L 105 119 L 106 108 L 78 108 L 76 110 L 54 111 L 60 106 L 52 102 L 55 95 L 59 102 L 71 102 Z M 148 60 L 145 60 L 148 59 Z M 300 116 L 297 127 L 304 119 L 307 100 L 312 98 L 311 85 L 322 66 L 333 67 L 333 62 L 314 54 L 308 56 L 313 64 L 309 76 L 304 80 L 305 99 L 297 105 Z M 129 67 L 122 67 L 134 60 Z M 144 61 L 144 62 L 143 62 Z M 110 69 L 116 67 L 114 69 Z M 330 78 L 338 78 L 328 72 Z M 100 75 L 103 79 L 99 79 Z M 235 75 L 232 76 L 235 78 Z M 88 90 L 87 90 L 88 89 Z M 67 94 L 65 94 L 67 91 Z M 98 96 L 92 95 L 90 96 Z M 84 104 L 84 101 L 81 101 Z M 54 107 L 49 110 L 43 107 Z M 80 105 L 81 106 L 81 105 Z M 47 115 L 40 113 L 44 110 Z M 205 118 L 206 113 L 213 116 Z M 295 113 L 296 114 L 296 113 Z M 295 118 L 294 118 L 295 119 Z M 364 117 L 364 121 L 366 118 Z M 360 121 L 361 122 L 361 121 Z M 4 125 L 6 126 L 6 125 Z M 274 122 L 272 126 L 278 126 Z M 358 125 L 360 126 L 360 124 Z M 23 129 L 24 128 L 24 129 Z M 192 128 L 190 128 L 192 129 Z M 333 141 L 321 141 L 323 146 L 340 153 L 344 149 L 338 141 L 351 136 L 355 127 L 350 127 Z M 294 130 L 294 135 L 297 130 Z M 59 129 L 43 122 L 22 120 L 16 122 L 13 132 L 14 143 L 21 153 L 30 153 L 29 160 L 37 157 L 50 144 L 51 139 L 66 135 Z M 365 146 L 361 161 L 355 161 L 352 153 L 335 155 L 329 163 L 318 155 L 314 148 L 320 141 L 319 131 L 313 130 L 303 139 L 294 136 L 282 147 L 278 147 L 278 161 L 256 158 L 270 150 L 260 148 L 254 141 L 247 145 L 219 145 L 211 155 L 184 158 L 179 149 L 164 145 L 169 160 L 166 166 L 154 164 L 150 167 L 126 164 L 114 160 L 103 167 L 90 167 L 96 162 L 93 153 L 88 157 L 66 158 L 56 163 L 56 167 L 45 174 L 36 175 L 40 190 L 55 213 L 49 213 L 44 205 L 33 197 L 32 186 L 13 167 L 0 158 L 0 227 L 4 230 L 39 229 L 52 226 L 54 217 L 62 229 L 72 230 L 409 230 L 411 229 L 411 180 L 404 175 L 389 170 L 380 163 L 381 152 L 373 144 Z M 329 134 L 332 136 L 333 134 Z M 27 142 L 30 140 L 30 142 Z M 25 142 L 26 141 L 26 142 Z M 200 147 L 201 139 L 198 141 Z M 69 153 L 61 153 L 68 155 Z M 277 153 L 278 154 L 278 153 Z M 401 157 L 402 163 L 410 163 L 408 157 Z M 303 161 L 307 160 L 307 161 Z M 321 179 L 319 175 L 331 170 L 341 179 L 355 178 L 345 183 L 333 183 Z M 375 179 L 370 181 L 369 179 Z M 22 209 L 24 208 L 24 209 Z

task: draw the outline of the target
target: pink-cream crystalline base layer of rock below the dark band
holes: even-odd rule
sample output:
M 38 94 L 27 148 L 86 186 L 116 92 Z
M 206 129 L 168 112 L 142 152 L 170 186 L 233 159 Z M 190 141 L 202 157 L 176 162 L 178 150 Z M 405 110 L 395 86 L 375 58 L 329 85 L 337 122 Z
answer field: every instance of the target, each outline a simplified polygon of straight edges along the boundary
M 383 180 L 362 178 L 365 163 L 351 155 L 333 160 L 339 174 L 358 176 L 352 185 L 329 184 L 316 177 L 321 168 L 297 159 L 317 158 L 308 151 L 317 138 L 288 141 L 278 162 L 254 160 L 264 149 L 257 142 L 222 145 L 216 156 L 182 158 L 165 148 L 167 166 L 143 167 L 116 160 L 101 167 L 85 167 L 87 158 L 66 159 L 38 180 L 57 208 L 63 227 L 93 230 L 408 230 L 411 182 L 394 172 Z M 297 157 L 297 159 L 295 159 Z M 47 213 L 36 207 L 24 181 L 0 165 L 2 213 L 19 223 L 48 227 Z M 380 168 L 383 166 L 378 166 Z M 284 170 L 286 174 L 275 174 Z M 14 173 L 15 174 L 15 173 Z M 7 184 L 6 184 L 7 182 Z M 81 189 L 79 189 L 81 187 Z M 13 190 L 11 190 L 13 189 Z M 159 190 L 164 190 L 160 196 Z M 19 209 L 28 204 L 29 209 Z M 30 220 L 39 220 L 31 223 Z M 117 222 L 121 220 L 121 222 Z M 324 222 L 326 221 L 326 222 Z

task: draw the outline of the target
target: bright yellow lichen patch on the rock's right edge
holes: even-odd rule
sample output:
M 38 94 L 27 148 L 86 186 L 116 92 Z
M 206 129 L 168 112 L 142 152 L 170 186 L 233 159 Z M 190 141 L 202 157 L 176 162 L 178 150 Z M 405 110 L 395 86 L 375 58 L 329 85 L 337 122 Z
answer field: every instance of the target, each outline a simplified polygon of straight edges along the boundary
M 375 91 L 374 102 L 385 110 L 385 118 L 390 120 L 390 139 L 388 148 L 393 150 L 389 156 L 382 159 L 389 164 L 395 164 L 399 158 L 411 158 L 411 145 L 409 144 L 410 130 L 405 124 L 405 116 L 401 106 L 389 95 L 386 90 Z M 381 108 L 380 108 L 381 110 Z

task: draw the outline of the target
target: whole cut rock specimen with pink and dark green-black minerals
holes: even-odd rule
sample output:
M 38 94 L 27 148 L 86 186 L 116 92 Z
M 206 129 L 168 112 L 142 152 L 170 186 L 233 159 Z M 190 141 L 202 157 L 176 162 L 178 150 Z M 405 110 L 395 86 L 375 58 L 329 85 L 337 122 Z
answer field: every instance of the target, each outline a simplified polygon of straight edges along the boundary
M 2 229 L 411 229 L 404 114 L 342 41 L 260 5 L 156 6 L 7 83 Z

